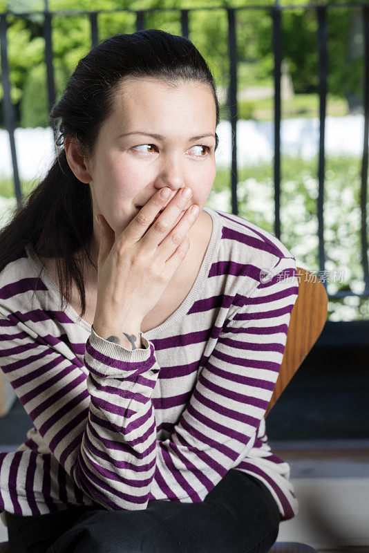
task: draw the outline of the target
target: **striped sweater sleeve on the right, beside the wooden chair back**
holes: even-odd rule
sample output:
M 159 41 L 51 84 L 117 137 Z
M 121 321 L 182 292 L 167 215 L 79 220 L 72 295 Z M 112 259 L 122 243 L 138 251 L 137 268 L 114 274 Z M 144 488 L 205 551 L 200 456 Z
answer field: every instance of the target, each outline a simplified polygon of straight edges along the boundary
M 299 292 L 294 258 L 281 258 L 219 329 L 173 433 L 156 444 L 150 499 L 199 503 L 254 446 L 281 368 Z M 215 332 L 215 330 L 214 330 Z M 213 332 L 213 334 L 214 334 Z

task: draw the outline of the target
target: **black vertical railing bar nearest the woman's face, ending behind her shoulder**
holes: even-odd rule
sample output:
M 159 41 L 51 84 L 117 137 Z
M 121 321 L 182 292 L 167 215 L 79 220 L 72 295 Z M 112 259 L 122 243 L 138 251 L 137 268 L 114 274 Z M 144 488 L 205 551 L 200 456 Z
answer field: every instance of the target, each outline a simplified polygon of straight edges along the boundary
M 232 213 L 238 215 L 237 204 L 237 48 L 234 8 L 227 8 L 229 48 L 229 109 L 231 115 L 231 201 Z

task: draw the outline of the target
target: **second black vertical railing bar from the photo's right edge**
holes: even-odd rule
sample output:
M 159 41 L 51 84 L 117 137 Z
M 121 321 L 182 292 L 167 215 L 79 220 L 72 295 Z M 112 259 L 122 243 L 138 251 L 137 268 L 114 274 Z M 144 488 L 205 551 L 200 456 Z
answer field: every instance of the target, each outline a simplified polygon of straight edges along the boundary
M 318 237 L 319 237 L 319 270 L 323 271 L 325 266 L 324 253 L 324 173 L 325 173 L 325 104 L 327 97 L 327 21 L 326 8 L 319 6 L 316 8 L 318 16 L 318 48 L 319 48 L 319 191 L 318 191 Z M 323 285 L 327 288 L 325 279 Z

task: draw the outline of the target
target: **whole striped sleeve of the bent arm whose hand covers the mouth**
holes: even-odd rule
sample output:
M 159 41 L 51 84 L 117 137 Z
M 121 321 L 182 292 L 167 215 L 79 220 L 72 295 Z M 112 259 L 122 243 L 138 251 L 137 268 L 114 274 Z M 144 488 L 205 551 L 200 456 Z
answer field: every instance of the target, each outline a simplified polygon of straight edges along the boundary
M 37 335 L 21 319 L 0 310 L 0 364 L 50 451 L 96 503 L 145 509 L 156 456 L 151 395 L 160 367 L 153 344 L 141 332 L 144 347 L 128 350 L 92 329 L 86 375 L 63 337 Z

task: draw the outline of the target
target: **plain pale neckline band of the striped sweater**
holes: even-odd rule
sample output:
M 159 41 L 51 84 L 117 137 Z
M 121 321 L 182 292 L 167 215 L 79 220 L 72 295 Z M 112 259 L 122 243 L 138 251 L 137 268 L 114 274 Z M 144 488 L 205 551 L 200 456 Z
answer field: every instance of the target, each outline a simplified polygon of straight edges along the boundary
M 162 330 L 166 330 L 167 328 L 175 324 L 178 321 L 178 319 L 186 315 L 187 311 L 195 301 L 196 296 L 198 295 L 198 292 L 202 288 L 203 282 L 205 281 L 205 279 L 207 279 L 207 275 L 209 274 L 210 264 L 213 260 L 214 252 L 220 240 L 221 225 L 220 225 L 220 218 L 219 218 L 218 212 L 216 212 L 214 209 L 211 209 L 209 207 L 203 207 L 202 209 L 203 211 L 207 212 L 211 216 L 213 220 L 213 229 L 211 231 L 211 237 L 209 240 L 209 244 L 207 246 L 207 251 L 205 252 L 205 256 L 202 259 L 202 263 L 200 265 L 200 270 L 198 271 L 196 281 L 193 283 L 191 290 L 189 291 L 185 299 L 182 301 L 180 306 L 176 309 L 176 311 L 174 311 L 168 317 L 168 319 L 163 321 L 162 324 L 155 326 L 154 328 L 151 328 L 151 330 L 148 330 L 147 332 L 142 332 L 142 335 L 146 337 L 146 339 L 148 340 L 154 338 L 158 334 L 158 332 L 161 332 Z M 48 273 L 44 265 L 41 263 L 41 259 L 39 259 L 39 256 L 37 255 L 37 253 L 35 252 L 35 250 L 33 249 L 30 243 L 26 245 L 26 252 L 30 260 L 33 263 L 35 263 L 35 265 L 37 265 L 39 269 L 42 268 L 41 278 L 44 279 L 50 292 L 52 292 L 53 295 L 57 297 L 57 301 L 60 301 L 59 287 L 53 281 L 50 274 Z M 64 297 L 63 299 L 64 299 L 66 315 L 68 315 L 68 317 L 70 317 L 70 319 L 72 319 L 73 322 L 75 322 L 75 324 L 82 326 L 85 330 L 91 333 L 91 330 L 92 330 L 91 324 L 89 324 L 87 321 L 82 319 L 82 317 L 79 317 L 75 308 L 73 308 L 70 305 L 70 303 L 66 301 Z

